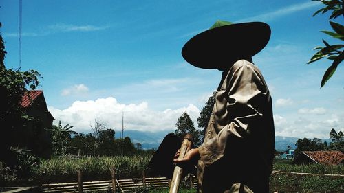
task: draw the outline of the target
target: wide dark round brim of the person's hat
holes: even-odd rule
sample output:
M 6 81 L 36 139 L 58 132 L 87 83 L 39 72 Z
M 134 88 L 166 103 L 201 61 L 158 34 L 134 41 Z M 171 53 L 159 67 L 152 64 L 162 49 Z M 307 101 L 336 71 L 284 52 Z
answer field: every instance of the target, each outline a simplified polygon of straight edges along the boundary
M 182 48 L 182 56 L 195 67 L 222 69 L 228 62 L 260 52 L 270 34 L 269 25 L 262 22 L 224 25 L 193 36 Z

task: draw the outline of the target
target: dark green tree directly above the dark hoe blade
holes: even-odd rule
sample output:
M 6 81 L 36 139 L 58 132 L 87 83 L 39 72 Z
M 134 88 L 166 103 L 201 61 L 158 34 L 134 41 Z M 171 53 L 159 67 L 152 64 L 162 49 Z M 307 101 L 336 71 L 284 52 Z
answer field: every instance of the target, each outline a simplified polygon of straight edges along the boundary
M 191 120 L 188 113 L 184 111 L 182 115 L 178 118 L 177 123 L 175 124 L 177 129 L 175 130 L 175 135 L 182 139 L 186 133 L 190 133 L 193 135 L 193 144 L 195 146 L 200 146 L 202 143 L 201 141 L 201 131 L 197 130 L 195 126 L 193 126 L 193 120 Z

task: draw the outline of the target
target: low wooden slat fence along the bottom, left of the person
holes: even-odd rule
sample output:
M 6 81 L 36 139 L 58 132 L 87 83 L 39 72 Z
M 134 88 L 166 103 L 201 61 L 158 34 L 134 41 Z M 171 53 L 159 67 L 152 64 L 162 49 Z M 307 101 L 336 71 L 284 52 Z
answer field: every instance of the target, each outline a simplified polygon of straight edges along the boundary
M 114 174 L 114 173 L 113 173 Z M 90 192 L 105 190 L 109 192 L 135 192 L 138 188 L 169 188 L 170 179 L 166 177 L 144 177 L 134 179 L 116 179 L 106 181 L 82 181 L 82 172 L 78 171 L 78 182 L 42 184 L 42 192 Z M 196 187 L 197 178 L 190 176 L 184 183 L 189 187 Z

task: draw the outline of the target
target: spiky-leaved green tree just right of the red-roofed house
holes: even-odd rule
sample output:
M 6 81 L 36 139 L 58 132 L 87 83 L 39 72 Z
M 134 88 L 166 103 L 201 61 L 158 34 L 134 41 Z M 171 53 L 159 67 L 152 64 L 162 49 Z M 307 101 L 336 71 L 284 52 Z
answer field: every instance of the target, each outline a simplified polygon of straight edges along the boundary
M 73 126 L 66 124 L 61 125 L 61 121 L 58 122 L 58 126 L 52 126 L 52 145 L 55 155 L 65 155 L 67 149 L 70 148 L 69 141 L 72 134 L 77 134 L 74 130 L 70 130 Z

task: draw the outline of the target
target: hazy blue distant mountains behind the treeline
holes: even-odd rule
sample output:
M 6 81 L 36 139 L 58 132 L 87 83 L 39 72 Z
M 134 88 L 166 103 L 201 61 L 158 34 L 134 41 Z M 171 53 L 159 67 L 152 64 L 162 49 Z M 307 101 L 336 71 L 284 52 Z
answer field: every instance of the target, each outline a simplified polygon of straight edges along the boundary
M 130 137 L 131 142 L 133 144 L 135 143 L 140 143 L 142 144 L 143 149 L 151 149 L 151 148 L 158 148 L 160 145 L 162 139 L 164 137 L 171 133 L 174 132 L 174 130 L 168 131 L 159 131 L 159 132 L 143 132 L 143 131 L 138 131 L 138 130 L 125 130 L 124 134 L 125 137 Z M 116 131 L 116 139 L 120 138 L 121 132 Z M 287 150 L 288 146 L 290 148 L 295 149 L 297 148 L 295 146 L 295 143 L 297 140 L 300 139 L 298 137 L 283 137 L 283 136 L 275 136 L 275 149 L 282 151 L 282 150 Z M 330 142 L 330 139 L 322 139 L 323 141 L 327 141 L 327 143 Z

